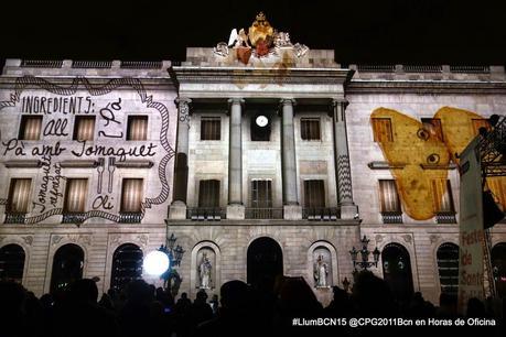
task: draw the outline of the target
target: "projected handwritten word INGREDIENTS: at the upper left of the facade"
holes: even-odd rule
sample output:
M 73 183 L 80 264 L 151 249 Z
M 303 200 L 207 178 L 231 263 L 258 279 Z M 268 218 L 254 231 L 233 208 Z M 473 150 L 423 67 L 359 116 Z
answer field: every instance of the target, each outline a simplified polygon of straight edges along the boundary
M 77 115 L 94 112 L 95 104 L 89 96 L 39 97 L 25 96 L 21 99 L 21 112 L 42 115 Z

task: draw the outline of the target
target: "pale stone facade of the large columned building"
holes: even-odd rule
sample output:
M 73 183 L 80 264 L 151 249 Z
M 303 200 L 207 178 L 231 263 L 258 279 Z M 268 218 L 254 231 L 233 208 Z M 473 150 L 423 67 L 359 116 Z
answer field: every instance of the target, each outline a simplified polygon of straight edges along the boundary
M 388 170 L 391 163 L 375 142 L 372 113 L 387 108 L 420 120 L 432 118 L 446 106 L 484 118 L 502 113 L 506 105 L 504 68 L 342 67 L 334 62 L 332 51 L 313 50 L 302 57 L 287 57 L 290 62 L 286 64 L 266 58 L 243 65 L 230 64 L 212 48 L 189 48 L 186 62 L 176 66 L 112 62 L 79 67 L 69 61 L 45 65 L 8 61 L 0 77 L 3 205 L 9 199 L 11 178 L 31 177 L 32 195 L 37 195 L 40 187 L 35 186 L 41 185 L 43 172 L 36 162 L 41 159 L 31 155 L 33 146 L 61 141 L 68 150 L 79 149 L 76 141 L 53 134 L 26 143 L 29 154 L 17 155 L 17 148 L 9 142 L 18 138 L 20 116 L 26 113 L 20 108 L 25 97 L 84 97 L 84 101 L 89 97 L 90 107 L 95 107 L 90 113 L 97 117 L 95 143 L 115 149 L 132 143 L 125 138 L 100 138 L 98 132 L 127 132 L 128 116 L 146 113 L 148 138 L 138 145 L 146 142 L 149 146 L 151 142 L 157 146 L 153 155 L 122 157 L 123 167 L 117 167 L 118 183 L 109 195 L 116 200 L 107 211 L 110 215 L 86 213 L 77 221 L 79 226 L 61 224 L 61 197 L 53 207 L 55 214 L 40 221 L 30 220 L 41 213 L 31 204 L 24 224 L 2 224 L 0 247 L 17 243 L 26 253 L 23 284 L 39 295 L 47 292 L 56 249 L 73 242 L 85 251 L 84 276 L 99 276 L 100 290 L 106 291 L 112 254 L 121 243 L 136 243 L 146 253 L 173 232 L 185 250 L 179 268 L 183 279 L 180 292 L 191 297 L 198 291 L 203 253 L 213 265 L 207 292 L 218 293 L 226 281 L 247 281 L 248 249 L 259 238 L 270 238 L 279 246 L 283 274 L 303 276 L 314 285 L 314 263 L 322 254 L 329 265 L 329 282 L 342 285 L 344 278 L 352 280 L 348 251 L 358 247 L 365 235 L 370 239 L 370 250 L 377 247 L 381 251 L 392 242 L 402 246 L 409 253 L 413 290 L 437 303 L 441 289 L 437 250 L 445 242 L 459 243 L 459 225 L 438 224 L 435 216 L 412 218 L 406 213 L 405 200 L 402 224 L 385 224 L 379 180 L 394 175 Z M 68 88 L 73 91 L 65 91 Z M 110 121 L 107 111 L 100 115 L 100 109 L 112 108 L 120 98 L 121 112 L 115 115 L 119 123 Z M 251 124 L 257 116 L 268 117 L 268 141 L 252 140 Z M 44 115 L 43 124 L 58 117 Z M 219 124 L 218 137 L 203 139 L 209 118 Z M 319 122 L 315 139 L 302 137 L 306 132 L 302 122 L 308 118 Z M 72 130 L 73 118 L 68 120 Z M 110 129 L 100 129 L 106 123 Z M 62 175 L 88 177 L 86 210 L 97 210 L 96 197 L 106 195 L 97 194 L 99 172 L 95 162 L 99 156 L 73 157 L 68 150 L 57 156 L 58 162 L 67 163 Z M 120 155 L 109 156 L 120 162 Z M 445 170 L 457 219 L 459 174 L 454 166 Z M 122 177 L 143 178 L 143 195 L 149 198 L 143 205 L 149 207 L 142 208 L 140 222 L 121 224 Z M 252 186 L 258 180 L 271 186 L 267 216 L 255 214 Z M 203 211 L 209 206 L 203 202 L 202 181 L 219 182 L 211 213 Z M 324 186 L 323 207 L 315 214 L 306 200 L 308 181 L 322 181 Z M 0 215 L 7 219 L 6 207 L 0 208 Z M 504 224 L 494 227 L 492 241 L 506 242 Z M 384 274 L 383 263 L 372 270 Z M 325 304 L 332 297 L 329 287 L 314 287 L 314 292 Z

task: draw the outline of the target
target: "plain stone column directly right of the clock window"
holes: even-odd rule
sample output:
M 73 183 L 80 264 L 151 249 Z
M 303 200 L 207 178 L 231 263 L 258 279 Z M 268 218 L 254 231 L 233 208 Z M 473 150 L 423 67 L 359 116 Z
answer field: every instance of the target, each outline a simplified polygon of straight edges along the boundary
M 294 99 L 281 99 L 281 157 L 284 219 L 302 219 L 302 207 L 297 194 L 295 137 L 293 128 Z

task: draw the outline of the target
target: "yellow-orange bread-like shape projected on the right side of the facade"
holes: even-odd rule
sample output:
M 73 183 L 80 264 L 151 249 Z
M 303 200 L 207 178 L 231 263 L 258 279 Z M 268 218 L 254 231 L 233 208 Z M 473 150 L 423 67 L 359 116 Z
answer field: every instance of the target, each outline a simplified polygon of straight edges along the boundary
M 448 205 L 450 160 L 459 163 L 456 154 L 478 134 L 480 128 L 489 129 L 480 115 L 452 107 L 438 110 L 429 127 L 387 108 L 374 110 L 370 118 L 375 141 L 394 167 L 403 210 L 416 220 L 430 219 L 442 205 Z M 496 202 L 506 207 L 506 177 L 487 178 L 487 183 Z

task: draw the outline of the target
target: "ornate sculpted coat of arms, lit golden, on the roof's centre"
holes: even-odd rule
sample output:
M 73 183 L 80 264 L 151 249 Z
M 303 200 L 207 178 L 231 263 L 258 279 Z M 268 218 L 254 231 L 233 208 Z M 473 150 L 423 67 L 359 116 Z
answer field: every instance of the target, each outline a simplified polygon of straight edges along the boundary
M 309 47 L 300 43 L 293 45 L 290 42 L 290 34 L 274 30 L 266 15 L 260 12 L 248 33 L 244 29 L 240 29 L 239 32 L 233 29 L 228 44 L 218 43 L 214 47 L 214 53 L 222 57 L 232 56 L 234 59 L 248 64 L 251 57 L 281 57 L 280 50 L 290 50 L 294 56 L 302 57 L 308 53 Z

